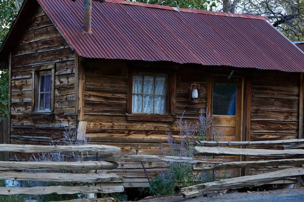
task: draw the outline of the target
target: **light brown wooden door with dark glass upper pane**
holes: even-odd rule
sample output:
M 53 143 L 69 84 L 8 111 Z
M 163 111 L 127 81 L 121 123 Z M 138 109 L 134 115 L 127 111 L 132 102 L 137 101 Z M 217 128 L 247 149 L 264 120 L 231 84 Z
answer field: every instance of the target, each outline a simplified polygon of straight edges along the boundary
M 227 76 L 208 77 L 207 107 L 212 115 L 212 127 L 223 136 L 215 141 L 242 141 L 243 78 Z M 231 157 L 240 161 L 240 157 Z

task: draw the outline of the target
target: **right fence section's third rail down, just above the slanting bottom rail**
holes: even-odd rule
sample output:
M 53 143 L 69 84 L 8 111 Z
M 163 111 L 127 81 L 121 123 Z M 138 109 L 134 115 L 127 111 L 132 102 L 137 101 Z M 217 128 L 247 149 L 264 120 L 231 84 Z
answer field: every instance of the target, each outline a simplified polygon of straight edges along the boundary
M 304 164 L 304 159 L 280 159 L 269 161 L 236 161 L 236 162 L 205 162 L 195 163 L 194 170 L 225 170 L 234 168 L 258 168 L 258 167 L 272 167 L 272 166 L 296 166 Z

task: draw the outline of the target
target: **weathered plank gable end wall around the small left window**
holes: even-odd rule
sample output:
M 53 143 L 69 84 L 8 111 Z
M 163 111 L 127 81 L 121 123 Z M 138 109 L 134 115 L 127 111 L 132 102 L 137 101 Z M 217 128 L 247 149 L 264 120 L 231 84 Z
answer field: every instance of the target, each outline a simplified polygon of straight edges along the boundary
M 55 68 L 53 113 L 32 112 L 33 66 Z M 50 144 L 75 126 L 74 53 L 42 8 L 37 8 L 12 52 L 11 143 Z

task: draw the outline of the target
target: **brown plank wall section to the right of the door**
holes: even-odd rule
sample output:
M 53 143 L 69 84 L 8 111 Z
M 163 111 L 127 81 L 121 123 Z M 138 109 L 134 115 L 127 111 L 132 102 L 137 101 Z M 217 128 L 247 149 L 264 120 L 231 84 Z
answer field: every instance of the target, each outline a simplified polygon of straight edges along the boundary
M 278 71 L 253 73 L 251 141 L 298 138 L 299 75 L 299 73 Z M 250 148 L 276 147 L 251 146 Z M 281 147 L 277 148 L 281 149 Z M 261 160 L 261 158 L 250 157 L 250 160 Z M 265 168 L 251 169 L 250 174 L 268 171 L 270 170 Z

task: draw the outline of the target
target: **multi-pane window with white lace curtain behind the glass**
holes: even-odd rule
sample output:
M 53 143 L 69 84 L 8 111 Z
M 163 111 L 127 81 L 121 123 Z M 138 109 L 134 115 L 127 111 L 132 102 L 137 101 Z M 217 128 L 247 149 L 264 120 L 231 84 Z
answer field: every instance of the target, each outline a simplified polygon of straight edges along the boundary
M 166 74 L 133 74 L 132 113 L 167 114 Z

